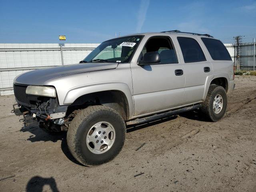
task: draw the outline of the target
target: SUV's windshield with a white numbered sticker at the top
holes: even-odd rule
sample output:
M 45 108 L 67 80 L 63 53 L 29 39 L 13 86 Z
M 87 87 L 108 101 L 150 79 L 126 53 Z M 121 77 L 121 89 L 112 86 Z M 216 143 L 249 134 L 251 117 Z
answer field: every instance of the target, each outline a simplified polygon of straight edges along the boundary
M 94 49 L 83 62 L 129 62 L 143 36 L 108 40 Z

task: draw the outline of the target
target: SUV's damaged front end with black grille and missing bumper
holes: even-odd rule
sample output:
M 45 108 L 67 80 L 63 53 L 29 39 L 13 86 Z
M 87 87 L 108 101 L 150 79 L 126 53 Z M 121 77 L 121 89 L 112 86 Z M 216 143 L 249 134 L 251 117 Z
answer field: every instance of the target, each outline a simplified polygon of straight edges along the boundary
M 20 122 L 31 126 L 33 126 L 33 122 L 38 122 L 40 128 L 50 132 L 68 130 L 70 120 L 74 115 L 68 114 L 68 118 L 66 117 L 69 105 L 60 106 L 56 94 L 27 94 L 26 90 L 29 85 L 14 83 L 13 86 L 17 104 L 13 105 L 11 112 L 23 116 Z M 34 89 L 40 92 L 40 88 Z M 32 88 L 30 88 L 30 92 L 32 92 Z

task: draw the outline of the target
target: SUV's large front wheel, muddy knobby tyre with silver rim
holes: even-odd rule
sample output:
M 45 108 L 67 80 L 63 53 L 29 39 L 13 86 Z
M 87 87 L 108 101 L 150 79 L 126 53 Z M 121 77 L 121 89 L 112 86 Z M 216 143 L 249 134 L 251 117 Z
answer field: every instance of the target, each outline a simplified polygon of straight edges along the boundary
M 95 166 L 112 160 L 120 152 L 125 135 L 120 114 L 106 106 L 89 106 L 70 123 L 67 143 L 78 162 Z

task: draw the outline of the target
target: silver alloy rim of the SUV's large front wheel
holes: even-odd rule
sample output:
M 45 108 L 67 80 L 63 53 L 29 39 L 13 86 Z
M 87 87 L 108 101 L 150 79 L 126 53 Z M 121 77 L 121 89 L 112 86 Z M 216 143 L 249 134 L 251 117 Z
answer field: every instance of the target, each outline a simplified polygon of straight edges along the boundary
M 114 144 L 116 131 L 114 126 L 106 121 L 94 124 L 87 133 L 86 145 L 90 152 L 102 154 Z

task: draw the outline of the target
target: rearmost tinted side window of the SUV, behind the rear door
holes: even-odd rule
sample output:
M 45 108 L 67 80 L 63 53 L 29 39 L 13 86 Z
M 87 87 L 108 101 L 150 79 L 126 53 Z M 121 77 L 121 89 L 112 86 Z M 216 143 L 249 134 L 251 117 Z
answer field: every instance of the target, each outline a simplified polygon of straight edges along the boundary
M 228 50 L 220 40 L 201 38 L 213 60 L 231 60 Z

